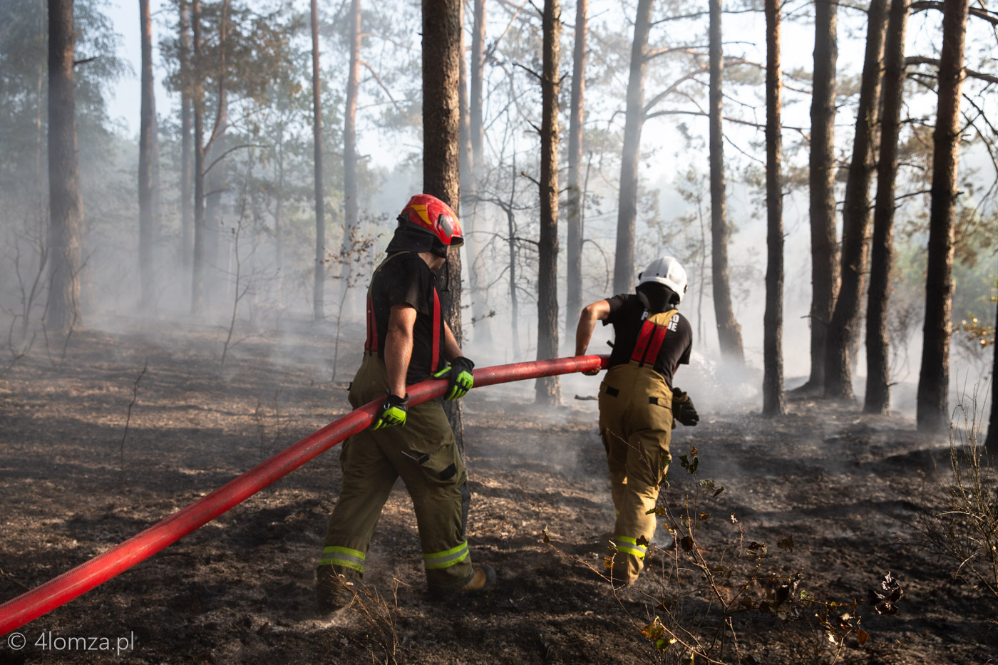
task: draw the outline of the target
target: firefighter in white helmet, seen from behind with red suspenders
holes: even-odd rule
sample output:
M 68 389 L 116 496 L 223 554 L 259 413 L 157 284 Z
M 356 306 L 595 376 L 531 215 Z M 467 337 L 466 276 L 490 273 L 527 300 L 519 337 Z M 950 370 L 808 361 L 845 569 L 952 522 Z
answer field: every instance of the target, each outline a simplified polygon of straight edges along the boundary
M 613 324 L 615 333 L 600 384 L 600 435 L 617 509 L 615 582 L 633 583 L 644 567 L 674 421 L 695 425 L 700 420 L 689 395 L 673 385 L 679 365 L 690 362 L 693 344 L 690 322 L 677 310 L 687 286 L 680 263 L 661 257 L 638 276 L 637 293 L 593 303 L 579 318 L 577 355 L 586 353 L 597 321 Z

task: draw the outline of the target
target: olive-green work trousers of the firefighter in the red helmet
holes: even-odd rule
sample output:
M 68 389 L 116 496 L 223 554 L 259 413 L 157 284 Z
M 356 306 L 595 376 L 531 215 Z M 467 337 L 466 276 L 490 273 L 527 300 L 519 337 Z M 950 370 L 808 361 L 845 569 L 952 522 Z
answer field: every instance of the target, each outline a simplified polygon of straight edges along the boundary
M 365 353 L 350 386 L 350 404 L 356 408 L 383 397 L 387 388 L 384 361 Z M 402 426 L 354 434 L 343 443 L 339 465 L 343 488 L 329 518 L 320 567 L 332 566 L 347 581 L 362 578 L 381 508 L 401 476 L 416 513 L 427 585 L 437 593 L 464 585 L 474 572 L 465 536 L 471 494 L 438 401 L 410 406 Z

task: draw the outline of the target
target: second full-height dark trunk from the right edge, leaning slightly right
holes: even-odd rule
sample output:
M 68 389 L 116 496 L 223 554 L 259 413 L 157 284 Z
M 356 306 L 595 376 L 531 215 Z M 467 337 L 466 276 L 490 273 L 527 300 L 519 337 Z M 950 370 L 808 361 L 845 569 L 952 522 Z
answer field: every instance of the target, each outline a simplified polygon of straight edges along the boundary
M 894 181 L 897 177 L 897 141 L 901 130 L 904 93 L 904 35 L 911 0 L 891 0 L 884 46 L 883 117 L 880 122 L 880 159 L 877 163 L 873 241 L 870 248 L 870 287 L 866 306 L 866 396 L 863 410 L 890 409 L 887 302 L 893 263 Z

